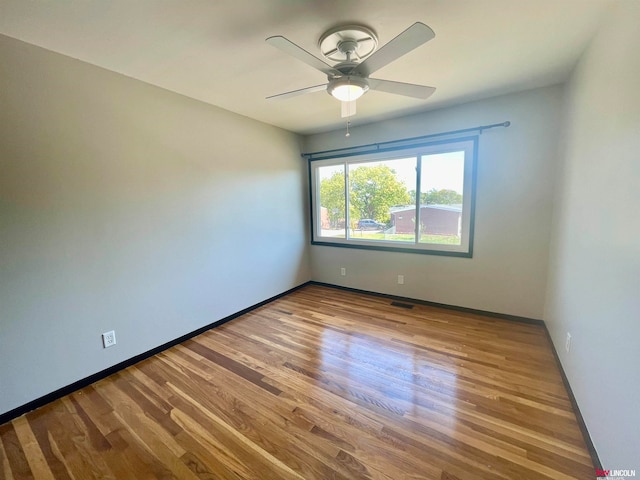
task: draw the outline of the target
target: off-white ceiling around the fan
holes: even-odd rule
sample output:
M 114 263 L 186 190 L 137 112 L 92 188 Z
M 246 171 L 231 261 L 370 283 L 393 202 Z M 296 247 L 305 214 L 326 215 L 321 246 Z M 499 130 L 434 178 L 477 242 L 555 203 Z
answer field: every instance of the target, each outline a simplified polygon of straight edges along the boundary
M 341 128 L 325 92 L 265 97 L 326 77 L 265 43 L 316 56 L 337 24 L 384 45 L 411 24 L 436 37 L 375 73 L 437 88 L 428 100 L 371 91 L 364 124 L 563 81 L 615 0 L 0 0 L 0 33 L 287 130 Z

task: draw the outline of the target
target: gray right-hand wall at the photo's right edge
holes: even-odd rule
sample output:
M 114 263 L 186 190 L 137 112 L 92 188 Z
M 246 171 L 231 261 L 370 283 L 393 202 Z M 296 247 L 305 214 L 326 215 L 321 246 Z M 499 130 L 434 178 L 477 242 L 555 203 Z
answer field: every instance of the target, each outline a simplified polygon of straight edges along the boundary
M 639 22 L 640 2 L 618 2 L 567 85 L 545 313 L 604 468 L 637 474 Z

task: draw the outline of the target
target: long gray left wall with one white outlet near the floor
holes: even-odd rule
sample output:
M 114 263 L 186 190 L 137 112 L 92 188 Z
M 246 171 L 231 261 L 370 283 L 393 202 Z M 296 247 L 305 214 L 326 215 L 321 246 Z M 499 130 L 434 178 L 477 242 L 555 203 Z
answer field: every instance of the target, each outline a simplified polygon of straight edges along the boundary
M 0 413 L 309 280 L 296 135 L 6 37 L 0 59 Z

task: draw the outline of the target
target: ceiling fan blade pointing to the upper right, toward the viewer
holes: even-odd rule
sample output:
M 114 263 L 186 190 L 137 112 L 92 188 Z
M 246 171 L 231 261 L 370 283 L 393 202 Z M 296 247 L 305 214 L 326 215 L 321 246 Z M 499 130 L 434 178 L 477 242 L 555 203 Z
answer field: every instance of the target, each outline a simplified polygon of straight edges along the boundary
M 436 34 L 424 23 L 416 22 L 354 68 L 353 73 L 367 76 L 393 62 L 411 50 L 428 42 Z

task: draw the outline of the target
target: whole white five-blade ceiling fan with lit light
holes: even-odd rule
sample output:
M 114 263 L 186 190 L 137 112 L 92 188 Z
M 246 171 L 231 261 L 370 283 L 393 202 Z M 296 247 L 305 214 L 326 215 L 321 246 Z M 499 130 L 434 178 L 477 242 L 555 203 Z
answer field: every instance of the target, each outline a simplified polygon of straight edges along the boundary
M 339 26 L 325 32 L 318 42 L 326 59 L 338 61 L 333 66 L 281 35 L 269 37 L 266 39 L 269 45 L 324 73 L 328 83 L 272 95 L 267 99 L 285 99 L 326 90 L 342 102 L 342 117 L 355 114 L 355 101 L 368 90 L 426 99 L 433 94 L 434 87 L 370 78 L 369 75 L 433 37 L 435 33 L 431 28 L 424 23 L 416 22 L 376 50 L 378 39 L 369 28 L 361 25 Z

